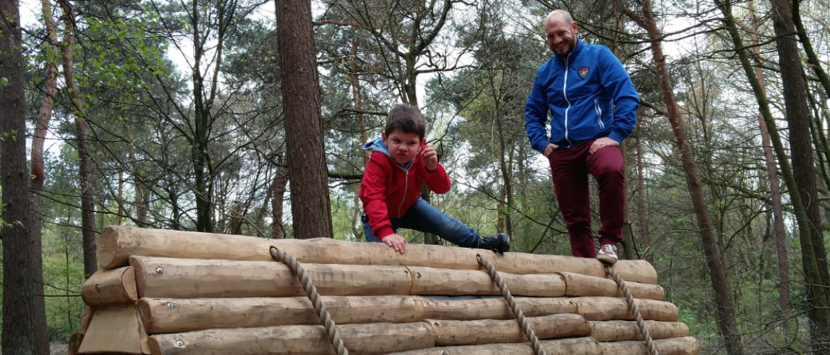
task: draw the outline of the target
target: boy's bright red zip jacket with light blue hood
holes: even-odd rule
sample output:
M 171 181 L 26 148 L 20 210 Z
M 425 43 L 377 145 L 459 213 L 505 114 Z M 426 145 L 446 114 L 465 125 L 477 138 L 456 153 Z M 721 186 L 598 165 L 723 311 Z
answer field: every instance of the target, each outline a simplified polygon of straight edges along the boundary
M 409 168 L 404 169 L 388 155 L 379 138 L 367 142 L 364 149 L 372 150 L 372 155 L 366 163 L 359 196 L 369 217 L 369 227 L 378 239 L 394 233 L 389 219 L 407 213 L 421 197 L 424 183 L 436 194 L 450 190 L 450 177 L 440 163 L 435 171 L 427 171 L 421 155 L 416 155 Z

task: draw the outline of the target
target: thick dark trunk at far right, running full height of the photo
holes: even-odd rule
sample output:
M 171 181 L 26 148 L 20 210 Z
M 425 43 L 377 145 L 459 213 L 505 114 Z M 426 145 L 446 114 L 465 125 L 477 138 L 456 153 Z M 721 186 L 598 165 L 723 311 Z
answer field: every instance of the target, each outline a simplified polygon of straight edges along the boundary
M 798 190 L 791 192 L 798 191 L 798 195 L 801 195 L 809 227 L 808 238 L 801 239 L 801 250 L 804 276 L 808 285 L 808 313 L 810 320 L 813 321 L 811 324 L 813 351 L 828 353 L 830 351 L 830 292 L 828 292 L 830 275 L 828 275 L 827 253 L 821 230 L 821 211 L 818 203 L 806 203 L 818 201 L 807 91 L 804 86 L 803 69 L 789 2 L 773 0 L 770 3 L 774 14 L 772 18 L 776 34 L 775 47 L 779 53 L 793 171 L 799 172 L 799 174 L 793 174 Z

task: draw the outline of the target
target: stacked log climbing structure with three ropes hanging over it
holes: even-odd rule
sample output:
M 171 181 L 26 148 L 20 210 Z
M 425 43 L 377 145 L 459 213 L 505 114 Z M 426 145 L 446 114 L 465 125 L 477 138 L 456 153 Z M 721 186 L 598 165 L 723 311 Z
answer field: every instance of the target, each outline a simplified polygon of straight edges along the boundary
M 309 288 L 271 249 L 301 265 L 351 354 L 699 349 L 643 260 L 612 268 L 625 280 L 627 299 L 595 259 L 439 245 L 408 245 L 401 255 L 385 244 L 330 238 L 110 226 L 98 243 L 101 268 L 81 288 L 86 308 L 71 353 L 338 353 Z M 496 269 L 510 297 L 479 258 Z

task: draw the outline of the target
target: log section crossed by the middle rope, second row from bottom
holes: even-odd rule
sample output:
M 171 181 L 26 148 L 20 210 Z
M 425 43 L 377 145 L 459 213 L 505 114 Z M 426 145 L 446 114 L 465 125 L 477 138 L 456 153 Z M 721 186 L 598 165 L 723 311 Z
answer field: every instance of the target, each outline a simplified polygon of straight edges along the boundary
M 544 317 L 526 318 L 536 338 L 553 339 L 565 337 L 587 337 L 591 326 L 577 314 L 554 314 Z M 490 343 L 522 343 L 528 339 L 516 319 L 481 320 L 427 320 L 435 328 L 436 346 L 475 345 Z

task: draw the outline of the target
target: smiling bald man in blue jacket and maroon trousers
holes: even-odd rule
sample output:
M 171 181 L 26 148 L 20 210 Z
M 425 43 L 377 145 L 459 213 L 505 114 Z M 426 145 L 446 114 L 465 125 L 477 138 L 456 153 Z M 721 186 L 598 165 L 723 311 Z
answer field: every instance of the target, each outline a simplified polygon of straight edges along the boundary
M 614 264 L 626 206 L 619 145 L 634 129 L 640 99 L 607 47 L 579 40 L 569 12 L 550 12 L 544 32 L 554 56 L 536 71 L 525 130 L 530 145 L 548 158 L 571 253 Z M 591 231 L 588 174 L 599 186 L 599 251 Z

